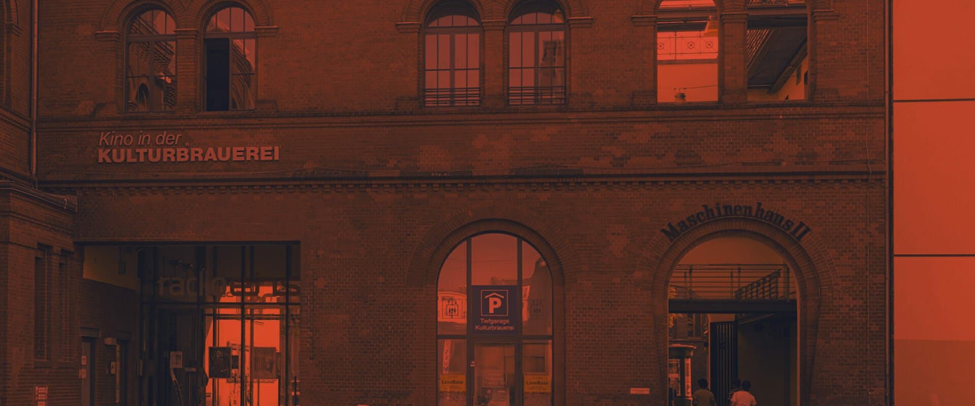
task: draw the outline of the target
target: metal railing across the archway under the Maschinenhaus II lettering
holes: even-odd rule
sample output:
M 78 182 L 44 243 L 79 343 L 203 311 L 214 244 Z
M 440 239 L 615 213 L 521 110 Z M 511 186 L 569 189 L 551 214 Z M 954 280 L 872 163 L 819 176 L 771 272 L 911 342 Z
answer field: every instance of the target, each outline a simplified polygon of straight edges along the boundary
M 680 300 L 791 300 L 797 292 L 784 264 L 683 264 L 671 288 Z

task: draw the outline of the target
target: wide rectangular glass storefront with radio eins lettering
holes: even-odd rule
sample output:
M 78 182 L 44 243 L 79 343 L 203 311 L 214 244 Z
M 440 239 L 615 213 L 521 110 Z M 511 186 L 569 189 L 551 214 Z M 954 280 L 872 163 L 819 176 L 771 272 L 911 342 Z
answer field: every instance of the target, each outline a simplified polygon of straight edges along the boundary
M 297 246 L 142 252 L 143 404 L 299 404 Z

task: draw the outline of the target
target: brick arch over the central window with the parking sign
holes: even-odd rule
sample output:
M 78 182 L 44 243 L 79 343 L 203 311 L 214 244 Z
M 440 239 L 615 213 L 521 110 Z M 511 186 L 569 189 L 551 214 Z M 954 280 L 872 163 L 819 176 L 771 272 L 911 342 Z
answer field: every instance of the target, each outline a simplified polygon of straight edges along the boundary
M 577 261 L 565 233 L 541 218 L 541 212 L 507 204 L 480 205 L 456 213 L 423 236 L 410 258 L 407 282 L 435 289 L 441 265 L 457 243 L 478 233 L 497 231 L 530 242 L 549 263 L 553 285 L 564 286 L 566 261 Z

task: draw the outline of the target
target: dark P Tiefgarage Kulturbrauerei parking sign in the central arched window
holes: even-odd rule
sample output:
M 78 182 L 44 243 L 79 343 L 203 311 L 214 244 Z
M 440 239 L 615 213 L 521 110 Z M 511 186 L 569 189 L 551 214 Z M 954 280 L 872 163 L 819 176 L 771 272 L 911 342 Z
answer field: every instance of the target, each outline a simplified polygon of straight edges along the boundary
M 470 313 L 475 334 L 518 334 L 522 299 L 518 286 L 471 286 L 474 300 Z

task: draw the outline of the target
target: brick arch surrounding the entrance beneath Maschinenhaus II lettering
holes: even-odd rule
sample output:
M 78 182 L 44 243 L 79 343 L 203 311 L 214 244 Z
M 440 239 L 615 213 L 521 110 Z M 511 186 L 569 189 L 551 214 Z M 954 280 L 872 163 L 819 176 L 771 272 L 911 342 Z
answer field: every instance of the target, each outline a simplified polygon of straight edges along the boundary
M 796 218 L 788 211 L 766 205 L 767 208 L 787 218 Z M 815 228 L 810 225 L 811 228 Z M 777 251 L 796 276 L 800 290 L 800 404 L 807 404 L 812 388 L 813 360 L 815 359 L 818 330 L 821 325 L 820 309 L 823 297 L 830 297 L 835 291 L 837 280 L 836 266 L 825 244 L 811 232 L 802 241 L 795 240 L 781 228 L 769 223 L 747 217 L 728 217 L 712 220 L 684 232 L 677 240 L 670 241 L 662 233 L 650 240 L 643 251 L 638 269 L 650 270 L 643 288 L 648 291 L 653 303 L 653 319 L 656 323 L 655 337 L 667 337 L 667 288 L 674 274 L 674 268 L 683 256 L 695 246 L 707 240 L 722 237 L 745 237 L 757 240 Z M 659 346 L 658 359 L 667 359 L 666 346 Z

